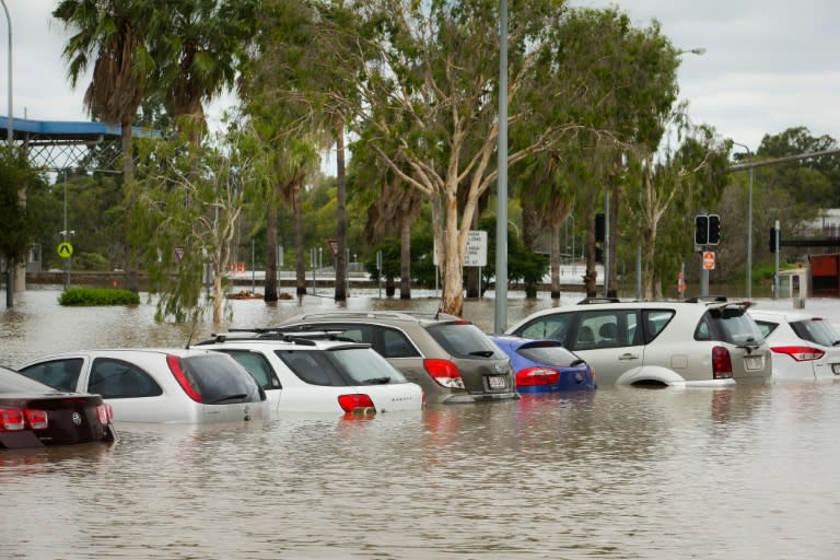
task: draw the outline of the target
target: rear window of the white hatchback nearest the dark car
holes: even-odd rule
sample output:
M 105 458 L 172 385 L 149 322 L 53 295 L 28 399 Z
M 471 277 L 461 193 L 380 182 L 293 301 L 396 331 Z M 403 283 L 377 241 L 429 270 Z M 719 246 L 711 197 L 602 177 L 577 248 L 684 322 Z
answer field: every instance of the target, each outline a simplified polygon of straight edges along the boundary
M 190 355 L 182 359 L 182 366 L 205 404 L 230 405 L 262 399 L 257 382 L 230 355 Z

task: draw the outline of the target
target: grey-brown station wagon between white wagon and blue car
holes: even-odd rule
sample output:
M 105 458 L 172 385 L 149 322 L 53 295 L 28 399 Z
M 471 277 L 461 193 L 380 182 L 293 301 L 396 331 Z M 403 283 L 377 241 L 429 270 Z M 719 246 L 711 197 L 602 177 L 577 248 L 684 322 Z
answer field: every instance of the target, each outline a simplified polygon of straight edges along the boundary
M 280 323 L 281 332 L 327 332 L 365 342 L 423 388 L 430 404 L 518 398 L 508 357 L 472 323 L 445 313 L 336 311 Z

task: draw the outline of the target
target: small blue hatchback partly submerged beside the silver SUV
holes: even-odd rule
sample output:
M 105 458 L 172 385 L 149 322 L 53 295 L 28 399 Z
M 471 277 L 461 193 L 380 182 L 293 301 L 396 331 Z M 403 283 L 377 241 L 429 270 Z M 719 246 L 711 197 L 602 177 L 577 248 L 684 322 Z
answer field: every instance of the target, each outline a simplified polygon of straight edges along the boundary
M 516 390 L 521 394 L 593 390 L 595 372 L 556 340 L 490 335 L 511 359 Z

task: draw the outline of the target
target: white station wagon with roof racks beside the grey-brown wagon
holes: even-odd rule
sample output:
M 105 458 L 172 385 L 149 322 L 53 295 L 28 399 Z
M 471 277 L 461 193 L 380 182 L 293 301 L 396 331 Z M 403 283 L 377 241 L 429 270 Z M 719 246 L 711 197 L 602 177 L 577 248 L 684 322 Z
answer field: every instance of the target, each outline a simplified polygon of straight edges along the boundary
M 423 390 L 370 345 L 236 331 L 200 348 L 225 352 L 265 389 L 276 412 L 375 415 L 421 410 Z

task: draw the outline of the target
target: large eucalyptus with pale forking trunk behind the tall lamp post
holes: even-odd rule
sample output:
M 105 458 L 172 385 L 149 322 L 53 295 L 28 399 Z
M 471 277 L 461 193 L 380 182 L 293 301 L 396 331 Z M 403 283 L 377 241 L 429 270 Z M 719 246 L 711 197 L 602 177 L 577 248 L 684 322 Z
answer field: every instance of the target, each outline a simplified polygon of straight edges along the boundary
M 465 0 L 374 0 L 357 2 L 376 32 L 365 44 L 359 86 L 363 103 L 360 141 L 370 145 L 406 185 L 432 207 L 441 255 L 441 310 L 463 310 L 463 264 L 479 198 L 495 183 L 499 138 L 499 13 L 495 2 Z M 509 153 L 513 165 L 579 128 L 556 108 L 568 95 L 562 77 L 538 72 L 550 57 L 553 31 L 564 3 L 515 2 L 510 12 L 509 126 L 538 119 L 529 142 Z M 361 59 L 359 50 L 348 57 Z M 370 50 L 364 55 L 370 57 Z M 396 142 L 396 147 L 393 147 Z M 466 203 L 458 211 L 458 194 Z

